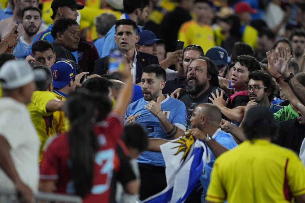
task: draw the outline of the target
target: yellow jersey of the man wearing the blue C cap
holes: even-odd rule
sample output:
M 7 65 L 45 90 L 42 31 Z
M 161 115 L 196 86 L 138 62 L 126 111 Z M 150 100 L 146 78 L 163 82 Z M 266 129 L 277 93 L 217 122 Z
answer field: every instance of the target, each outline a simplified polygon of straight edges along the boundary
M 67 95 L 60 92 L 59 90 L 53 90 L 53 94 L 57 99 L 65 101 Z M 50 135 L 55 135 L 57 133 L 65 132 L 65 112 L 64 111 L 55 111 L 53 113 L 53 122 Z

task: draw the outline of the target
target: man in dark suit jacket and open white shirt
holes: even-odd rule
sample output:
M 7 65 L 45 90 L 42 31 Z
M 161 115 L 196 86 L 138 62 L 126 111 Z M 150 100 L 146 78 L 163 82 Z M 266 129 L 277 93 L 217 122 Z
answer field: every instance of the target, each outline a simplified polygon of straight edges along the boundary
M 121 19 L 115 25 L 115 41 L 118 49 L 128 58 L 133 76 L 133 83 L 141 82 L 142 70 L 148 65 L 158 64 L 158 58 L 152 54 L 138 52 L 136 43 L 139 41 L 137 24 L 131 19 Z M 109 56 L 95 61 L 95 74 L 103 75 L 108 71 Z

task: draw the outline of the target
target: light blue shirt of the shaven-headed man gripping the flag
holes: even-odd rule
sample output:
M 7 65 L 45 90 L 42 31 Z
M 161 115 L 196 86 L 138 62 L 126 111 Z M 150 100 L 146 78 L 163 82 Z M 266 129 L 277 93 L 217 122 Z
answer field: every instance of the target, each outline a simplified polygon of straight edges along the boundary
M 230 133 L 227 133 L 225 131 L 222 131 L 220 128 L 216 130 L 212 138 L 227 148 L 228 150 L 233 149 L 237 146 L 237 143 L 233 139 L 232 135 Z M 212 150 L 208 147 L 208 153 L 210 155 L 210 162 L 208 162 L 204 167 L 204 174 L 200 177 L 200 182 L 203 186 L 203 191 L 206 194 L 208 191 L 208 185 L 210 183 L 210 175 L 212 172 L 213 164 L 215 162 L 216 157 L 214 156 Z

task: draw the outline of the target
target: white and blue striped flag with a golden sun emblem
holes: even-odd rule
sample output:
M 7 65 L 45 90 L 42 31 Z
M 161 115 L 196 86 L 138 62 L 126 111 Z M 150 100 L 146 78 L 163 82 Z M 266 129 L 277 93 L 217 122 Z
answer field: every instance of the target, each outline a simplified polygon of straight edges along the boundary
M 167 187 L 143 202 L 184 202 L 197 184 L 205 163 L 207 146 L 192 135 L 180 137 L 160 146 L 164 161 Z

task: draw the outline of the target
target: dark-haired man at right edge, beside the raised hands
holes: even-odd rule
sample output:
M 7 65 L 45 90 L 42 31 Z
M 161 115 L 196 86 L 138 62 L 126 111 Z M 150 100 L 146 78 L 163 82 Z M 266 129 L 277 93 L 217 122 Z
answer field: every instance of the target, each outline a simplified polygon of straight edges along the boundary
M 305 32 L 297 30 L 290 37 L 295 59 L 299 62 L 300 71 L 305 71 L 304 49 L 305 49 Z

